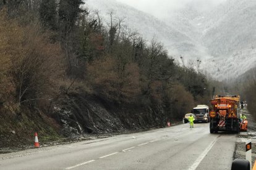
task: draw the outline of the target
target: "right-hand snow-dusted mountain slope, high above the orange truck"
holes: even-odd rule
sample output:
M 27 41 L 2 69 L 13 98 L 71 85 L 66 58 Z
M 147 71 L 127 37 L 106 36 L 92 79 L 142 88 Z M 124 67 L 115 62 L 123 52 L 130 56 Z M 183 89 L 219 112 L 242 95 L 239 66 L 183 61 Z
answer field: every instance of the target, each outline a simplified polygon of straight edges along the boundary
M 213 59 L 208 71 L 220 79 L 237 77 L 256 66 L 256 1 L 229 0 L 195 18 L 203 46 Z

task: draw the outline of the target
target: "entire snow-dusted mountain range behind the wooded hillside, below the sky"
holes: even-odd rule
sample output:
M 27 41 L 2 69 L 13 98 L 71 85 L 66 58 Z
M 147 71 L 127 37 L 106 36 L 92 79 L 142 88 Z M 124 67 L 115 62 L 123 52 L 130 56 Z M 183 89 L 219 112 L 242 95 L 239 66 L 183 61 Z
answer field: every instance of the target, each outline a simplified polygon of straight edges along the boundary
M 214 78 L 235 78 L 256 66 L 255 0 L 227 0 L 208 11 L 199 10 L 190 2 L 165 18 L 156 18 L 116 0 L 85 2 L 90 10 L 100 10 L 105 20 L 109 20 L 108 13 L 113 10 L 143 38 L 163 42 L 177 61 L 180 55 L 190 64 L 202 60 L 200 68 Z

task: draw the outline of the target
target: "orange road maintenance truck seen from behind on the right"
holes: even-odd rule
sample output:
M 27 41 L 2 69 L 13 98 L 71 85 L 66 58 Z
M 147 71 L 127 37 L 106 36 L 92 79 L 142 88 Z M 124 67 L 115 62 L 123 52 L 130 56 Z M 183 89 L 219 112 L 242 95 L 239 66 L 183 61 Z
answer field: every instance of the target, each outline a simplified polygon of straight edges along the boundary
M 218 131 L 240 132 L 241 120 L 240 115 L 237 114 L 239 100 L 239 95 L 231 97 L 218 95 L 210 101 L 212 107 L 209 113 L 210 133 Z

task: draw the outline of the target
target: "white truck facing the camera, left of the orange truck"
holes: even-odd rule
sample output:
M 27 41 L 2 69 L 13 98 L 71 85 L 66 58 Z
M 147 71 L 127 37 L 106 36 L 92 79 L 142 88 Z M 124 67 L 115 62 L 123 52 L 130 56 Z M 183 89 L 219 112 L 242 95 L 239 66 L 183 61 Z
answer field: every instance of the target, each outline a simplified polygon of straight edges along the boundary
M 209 107 L 207 105 L 197 105 L 192 110 L 195 115 L 196 122 L 209 122 Z

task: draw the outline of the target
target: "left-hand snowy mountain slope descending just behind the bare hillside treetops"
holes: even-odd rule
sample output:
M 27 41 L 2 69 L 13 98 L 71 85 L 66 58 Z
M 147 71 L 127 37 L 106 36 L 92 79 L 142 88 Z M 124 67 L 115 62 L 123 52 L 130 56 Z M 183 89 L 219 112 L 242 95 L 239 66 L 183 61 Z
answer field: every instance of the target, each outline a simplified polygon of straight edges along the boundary
M 101 16 L 107 21 L 110 18 L 108 15 L 109 11 L 113 10 L 114 16 L 124 18 L 124 25 L 140 33 L 148 42 L 153 38 L 161 41 L 164 47 L 168 49 L 169 55 L 177 57 L 177 59 L 179 59 L 180 55 L 195 59 L 201 56 L 207 56 L 205 48 L 198 44 L 194 38 L 191 38 L 190 34 L 178 30 L 177 25 L 168 24 L 153 15 L 117 2 L 116 0 L 87 0 L 85 2 L 85 5 L 90 10 L 100 10 Z

